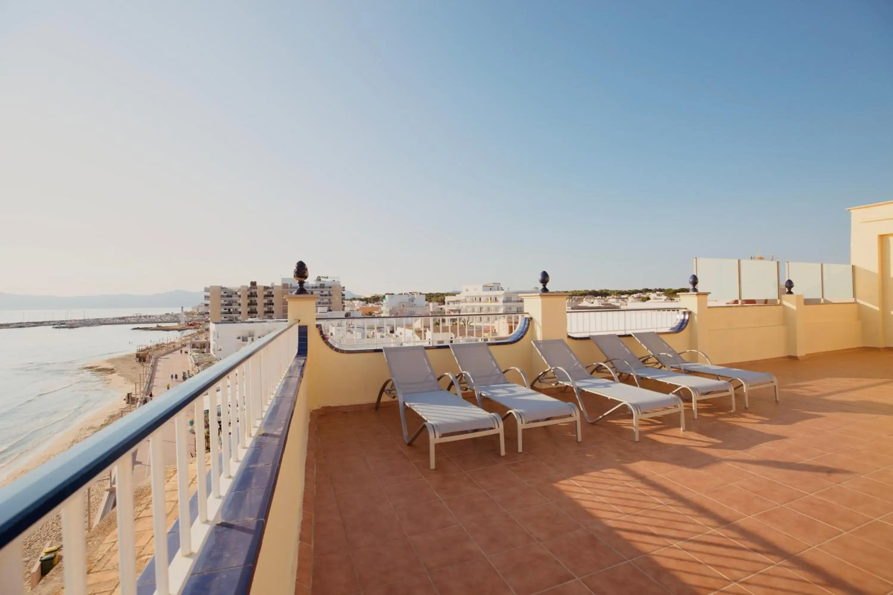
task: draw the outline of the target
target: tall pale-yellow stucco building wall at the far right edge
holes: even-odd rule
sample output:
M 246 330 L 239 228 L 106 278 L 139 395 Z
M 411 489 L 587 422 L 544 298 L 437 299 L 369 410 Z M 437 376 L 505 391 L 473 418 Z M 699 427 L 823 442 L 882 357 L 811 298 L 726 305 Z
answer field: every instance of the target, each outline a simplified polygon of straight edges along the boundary
M 855 267 L 863 344 L 893 347 L 893 201 L 849 212 L 849 255 Z

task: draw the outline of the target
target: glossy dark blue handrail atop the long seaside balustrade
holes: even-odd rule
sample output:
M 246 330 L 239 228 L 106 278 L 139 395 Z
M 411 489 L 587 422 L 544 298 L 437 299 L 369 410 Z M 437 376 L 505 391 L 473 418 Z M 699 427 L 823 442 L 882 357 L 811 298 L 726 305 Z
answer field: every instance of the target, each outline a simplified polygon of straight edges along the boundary
M 288 325 L 221 359 L 157 399 L 65 450 L 37 469 L 0 489 L 0 549 L 53 512 L 71 494 L 134 449 L 196 397 L 207 393 L 276 337 Z M 297 343 L 295 344 L 297 348 Z

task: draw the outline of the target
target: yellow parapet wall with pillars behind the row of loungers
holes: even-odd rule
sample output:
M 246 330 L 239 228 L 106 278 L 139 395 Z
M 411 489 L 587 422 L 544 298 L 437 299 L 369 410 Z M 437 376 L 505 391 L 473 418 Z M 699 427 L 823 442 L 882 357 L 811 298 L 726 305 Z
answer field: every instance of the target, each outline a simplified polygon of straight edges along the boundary
M 691 311 L 689 326 L 680 333 L 663 334 L 663 338 L 677 351 L 705 351 L 714 364 L 804 357 L 808 353 L 862 345 L 859 308 L 855 303 L 804 306 L 802 296 L 786 295 L 783 303 L 777 305 L 708 308 L 706 298 L 705 293 L 684 294 L 680 305 Z M 566 296 L 561 293 L 525 295 L 524 310 L 530 314 L 530 327 L 515 343 L 491 345 L 499 365 L 522 368 L 530 379 L 537 376 L 545 364 L 532 342 L 540 337 L 564 338 L 585 364 L 604 360 L 595 343 L 567 337 L 565 308 Z M 389 376 L 381 351 L 334 349 L 316 327 L 312 300 L 289 296 L 288 314 L 289 320 L 309 327 L 305 369 L 308 408 L 374 402 Z M 632 337 L 624 337 L 623 341 L 637 355 L 646 354 Z M 458 373 L 449 349 L 436 347 L 427 352 L 438 375 Z

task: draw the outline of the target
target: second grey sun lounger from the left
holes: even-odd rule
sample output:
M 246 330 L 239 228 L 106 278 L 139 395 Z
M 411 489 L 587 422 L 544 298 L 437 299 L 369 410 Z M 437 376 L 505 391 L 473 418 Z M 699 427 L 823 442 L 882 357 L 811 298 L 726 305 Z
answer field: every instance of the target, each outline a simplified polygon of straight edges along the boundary
M 580 442 L 580 411 L 576 405 L 534 391 L 520 368 L 500 370 L 487 343 L 453 343 L 450 351 L 462 370 L 459 378 L 464 378 L 468 388 L 474 391 L 478 405 L 483 407 L 481 397 L 490 399 L 508 409 L 503 419 L 514 416 L 518 423 L 518 452 L 522 451 L 522 430 L 530 427 L 575 422 L 577 442 Z M 505 377 L 509 370 L 517 371 L 524 384 L 509 382 Z

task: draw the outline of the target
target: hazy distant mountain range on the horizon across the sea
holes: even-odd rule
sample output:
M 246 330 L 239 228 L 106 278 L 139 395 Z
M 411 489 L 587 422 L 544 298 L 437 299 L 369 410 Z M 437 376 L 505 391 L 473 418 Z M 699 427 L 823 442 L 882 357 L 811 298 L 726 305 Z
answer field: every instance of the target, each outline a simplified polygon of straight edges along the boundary
M 203 292 L 176 289 L 172 292 L 138 295 L 20 295 L 0 293 L 0 310 L 68 310 L 76 308 L 191 308 L 204 302 Z

